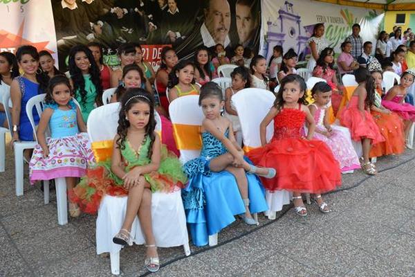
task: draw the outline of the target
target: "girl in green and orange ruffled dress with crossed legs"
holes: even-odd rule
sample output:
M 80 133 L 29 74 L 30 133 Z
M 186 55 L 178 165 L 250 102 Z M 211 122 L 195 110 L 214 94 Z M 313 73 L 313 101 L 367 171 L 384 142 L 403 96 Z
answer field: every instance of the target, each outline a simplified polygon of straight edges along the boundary
M 149 271 L 157 271 L 160 264 L 151 229 L 151 191 L 172 192 L 187 181 L 180 161 L 161 145 L 155 127 L 151 94 L 144 89 L 129 89 L 121 98 L 111 160 L 89 170 L 70 193 L 71 199 L 88 213 L 98 210 L 104 195 L 127 195 L 127 212 L 113 242 L 131 245 L 129 232 L 138 215 L 147 244 L 145 266 Z

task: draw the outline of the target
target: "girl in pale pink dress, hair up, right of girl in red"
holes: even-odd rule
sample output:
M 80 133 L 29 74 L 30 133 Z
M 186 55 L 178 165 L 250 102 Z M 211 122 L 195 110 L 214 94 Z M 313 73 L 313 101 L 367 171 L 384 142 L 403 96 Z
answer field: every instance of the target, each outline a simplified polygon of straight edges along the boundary
M 328 120 L 326 105 L 331 99 L 331 87 L 326 82 L 317 82 L 311 93 L 315 101 L 308 106 L 315 121 L 313 139 L 324 141 L 340 163 L 342 172 L 360 168 L 359 158 L 351 144 L 350 136 L 345 136 L 338 129 L 332 129 Z

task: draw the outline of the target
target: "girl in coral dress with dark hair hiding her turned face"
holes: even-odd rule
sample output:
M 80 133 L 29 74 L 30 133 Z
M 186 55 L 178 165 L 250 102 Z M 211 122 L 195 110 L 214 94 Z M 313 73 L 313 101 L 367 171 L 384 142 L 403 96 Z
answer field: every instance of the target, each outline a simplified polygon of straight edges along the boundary
M 340 123 L 350 129 L 353 141 L 362 141 L 362 169 L 368 175 L 376 175 L 376 168 L 369 161 L 369 152 L 371 145 L 385 141 L 385 139 L 380 134 L 379 127 L 369 110 L 374 105 L 375 80 L 369 70 L 364 67 L 355 71 L 355 77 L 359 85 L 353 92 L 349 104 L 342 111 Z

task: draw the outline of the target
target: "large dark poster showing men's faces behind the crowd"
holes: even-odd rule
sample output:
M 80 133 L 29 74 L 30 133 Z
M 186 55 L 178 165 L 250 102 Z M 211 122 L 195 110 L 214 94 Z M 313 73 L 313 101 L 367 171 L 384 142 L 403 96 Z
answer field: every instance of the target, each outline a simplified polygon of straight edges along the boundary
M 141 44 L 156 51 L 145 55 L 155 64 L 163 45 L 172 45 L 180 58 L 192 57 L 201 45 L 220 43 L 228 53 L 237 44 L 255 53 L 259 47 L 259 0 L 51 1 L 61 67 L 72 46 L 89 42 L 102 44 L 107 56 L 116 55 L 123 42 Z

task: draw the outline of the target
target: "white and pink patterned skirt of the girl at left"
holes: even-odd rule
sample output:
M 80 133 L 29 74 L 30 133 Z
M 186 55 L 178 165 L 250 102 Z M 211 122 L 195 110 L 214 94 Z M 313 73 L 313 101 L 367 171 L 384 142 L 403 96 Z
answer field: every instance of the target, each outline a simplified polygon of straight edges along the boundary
M 86 168 L 95 163 L 88 134 L 80 133 L 60 139 L 46 139 L 49 156 L 43 157 L 38 144 L 29 163 L 30 183 L 60 177 L 83 177 Z

